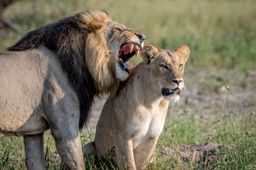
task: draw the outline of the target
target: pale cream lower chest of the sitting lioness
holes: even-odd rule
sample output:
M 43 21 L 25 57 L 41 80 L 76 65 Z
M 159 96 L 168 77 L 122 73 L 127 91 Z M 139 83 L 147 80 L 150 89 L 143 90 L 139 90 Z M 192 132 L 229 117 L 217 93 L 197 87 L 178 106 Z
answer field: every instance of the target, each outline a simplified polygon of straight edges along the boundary
M 133 136 L 133 148 L 142 144 L 149 138 L 160 136 L 163 130 L 166 113 L 158 107 L 152 109 L 140 108 L 136 118 L 130 124 Z

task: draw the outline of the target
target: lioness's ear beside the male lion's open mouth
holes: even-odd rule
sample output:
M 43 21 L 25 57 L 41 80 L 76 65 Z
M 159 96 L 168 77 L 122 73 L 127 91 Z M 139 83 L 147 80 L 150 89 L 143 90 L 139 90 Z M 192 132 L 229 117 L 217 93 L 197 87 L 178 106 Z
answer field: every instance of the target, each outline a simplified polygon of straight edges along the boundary
M 150 64 L 157 57 L 158 49 L 154 46 L 144 46 L 141 52 L 145 64 Z

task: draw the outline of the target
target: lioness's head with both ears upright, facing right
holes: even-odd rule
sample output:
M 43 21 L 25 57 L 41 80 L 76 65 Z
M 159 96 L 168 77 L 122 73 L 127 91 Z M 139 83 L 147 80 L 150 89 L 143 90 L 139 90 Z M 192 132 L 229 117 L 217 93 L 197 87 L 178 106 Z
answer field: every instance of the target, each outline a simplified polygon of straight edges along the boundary
M 184 87 L 184 64 L 190 54 L 187 46 L 179 46 L 174 52 L 169 49 L 157 49 L 145 46 L 141 55 L 149 69 L 151 79 L 157 82 L 163 97 L 178 101 L 180 90 Z

